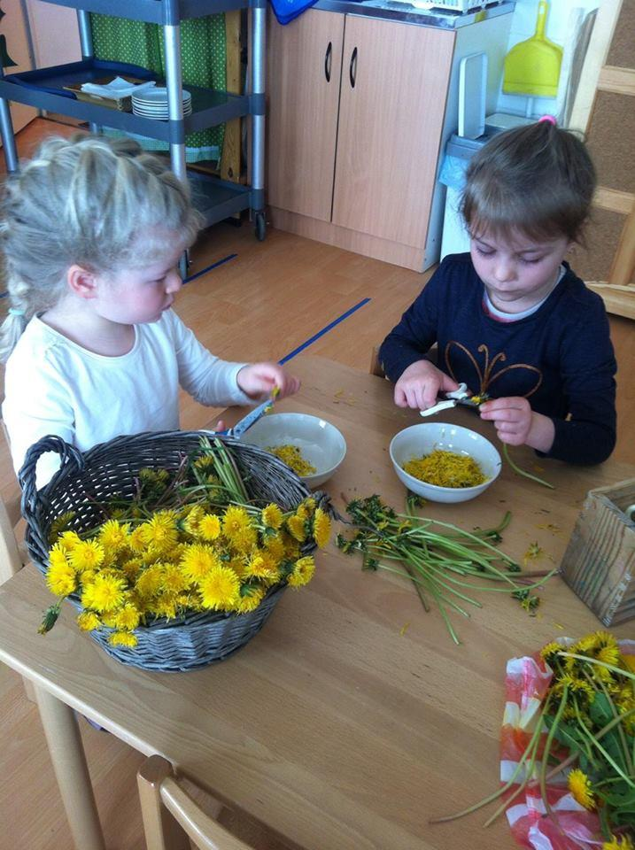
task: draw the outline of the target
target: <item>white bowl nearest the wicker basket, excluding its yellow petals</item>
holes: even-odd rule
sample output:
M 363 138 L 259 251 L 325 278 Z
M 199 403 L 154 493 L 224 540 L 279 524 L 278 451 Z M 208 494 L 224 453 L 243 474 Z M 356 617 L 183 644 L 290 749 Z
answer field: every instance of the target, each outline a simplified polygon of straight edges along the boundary
M 345 459 L 346 441 L 335 425 L 306 413 L 267 413 L 241 437 L 261 449 L 297 445 L 302 457 L 315 467 L 313 475 L 300 475 L 307 487 L 328 481 Z

